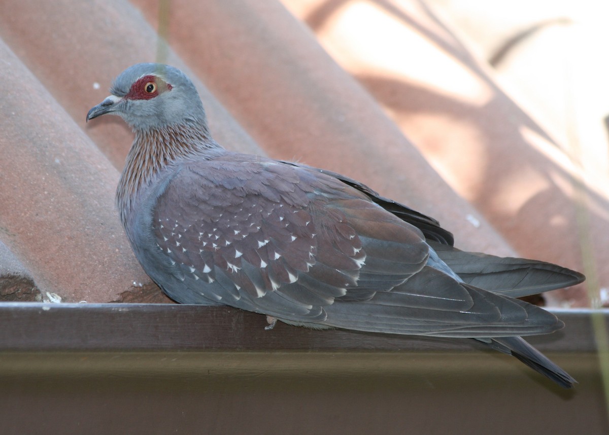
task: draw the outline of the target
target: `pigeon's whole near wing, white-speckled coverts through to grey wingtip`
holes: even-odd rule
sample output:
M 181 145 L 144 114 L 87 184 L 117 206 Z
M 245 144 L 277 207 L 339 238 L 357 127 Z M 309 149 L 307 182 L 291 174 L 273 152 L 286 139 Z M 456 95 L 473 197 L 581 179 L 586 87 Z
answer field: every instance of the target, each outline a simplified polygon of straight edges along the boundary
M 366 189 L 253 156 L 184 165 L 154 209 L 158 248 L 184 284 L 164 290 L 178 302 L 200 297 L 364 331 L 480 337 L 560 327 L 546 311 L 426 266 L 423 233 Z

